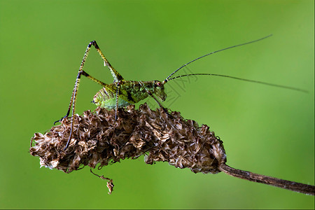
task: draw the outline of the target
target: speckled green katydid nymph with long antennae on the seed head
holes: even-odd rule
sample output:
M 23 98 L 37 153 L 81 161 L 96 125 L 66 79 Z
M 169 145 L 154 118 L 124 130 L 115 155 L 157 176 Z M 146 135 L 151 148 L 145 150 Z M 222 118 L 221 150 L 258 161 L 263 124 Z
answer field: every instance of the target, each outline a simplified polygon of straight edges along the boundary
M 272 36 L 272 34 L 270 34 L 269 36 Z M 221 75 L 221 74 L 216 74 L 216 73 L 191 73 L 191 74 L 185 74 L 185 75 L 176 76 L 176 77 L 171 78 L 174 75 L 174 73 L 176 73 L 177 71 L 182 69 L 184 66 L 187 66 L 188 64 L 191 64 L 192 62 L 195 62 L 197 59 L 201 59 L 202 57 L 206 57 L 208 55 L 214 54 L 216 52 L 221 52 L 223 50 L 228 50 L 230 48 L 235 48 L 235 47 L 238 47 L 238 46 L 241 46 L 241 45 L 254 43 L 256 41 L 260 41 L 262 39 L 265 39 L 265 38 L 267 38 L 269 36 L 265 36 L 265 37 L 259 38 L 257 40 L 254 40 L 254 41 L 241 43 L 239 45 L 233 45 L 233 46 L 230 46 L 228 48 L 223 48 L 221 50 L 216 50 L 214 52 L 208 53 L 207 55 L 203 55 L 201 57 L 197 57 L 196 59 L 193 59 L 192 61 L 184 64 L 181 67 L 179 67 L 179 69 L 176 69 L 176 71 L 171 73 L 169 76 L 167 76 L 167 78 L 165 78 L 165 80 L 162 80 L 162 81 L 159 81 L 159 80 L 151 80 L 151 81 L 125 80 L 123 78 L 123 76 L 121 76 L 120 73 L 118 73 L 118 71 L 116 71 L 116 69 L 114 69 L 113 66 L 111 66 L 111 64 L 106 59 L 106 57 L 104 56 L 102 51 L 99 49 L 99 46 L 97 45 L 97 42 L 96 41 L 91 41 L 87 45 L 87 49 L 85 50 L 85 54 L 83 56 L 83 60 L 82 60 L 82 62 L 80 64 L 80 68 L 79 68 L 79 71 L 78 71 L 78 76 L 76 77 L 76 83 L 74 85 L 73 92 L 72 92 L 72 95 L 71 95 L 68 111 L 66 113 L 66 116 L 63 117 L 63 118 L 67 118 L 69 116 L 71 108 L 72 108 L 72 113 L 71 113 L 71 120 L 72 120 L 71 121 L 71 132 L 70 132 L 69 139 L 68 139 L 68 142 L 66 143 L 66 147 L 64 148 L 64 150 L 66 150 L 66 148 L 69 146 L 69 143 L 70 143 L 72 135 L 73 135 L 72 134 L 72 130 L 73 130 L 73 120 L 74 120 L 74 117 L 75 117 L 74 113 L 75 113 L 75 110 L 76 110 L 76 95 L 77 95 L 77 92 L 78 92 L 78 85 L 80 83 L 81 76 L 86 76 L 87 78 L 90 78 L 90 80 L 93 80 L 94 82 L 99 83 L 99 85 L 102 85 L 103 88 L 101 90 L 99 90 L 99 92 L 97 92 L 97 94 L 95 94 L 92 102 L 95 105 L 100 106 L 102 108 L 116 109 L 115 119 L 117 119 L 118 108 L 122 108 L 122 107 L 128 106 L 130 104 L 137 104 L 141 100 L 146 99 L 148 96 L 153 97 L 155 102 L 157 102 L 159 104 L 159 106 L 167 112 L 167 110 L 162 106 L 162 104 L 158 100 L 158 99 L 160 99 L 162 102 L 164 102 L 166 97 L 167 97 L 167 94 L 165 93 L 164 85 L 169 80 L 173 80 L 173 79 L 176 79 L 176 78 L 181 78 L 183 76 L 201 76 L 201 75 L 221 76 L 221 77 L 226 77 L 226 78 L 235 78 L 235 79 L 238 79 L 238 80 L 244 80 L 244 81 L 248 81 L 248 82 L 252 82 L 252 83 L 261 83 L 261 84 L 264 84 L 264 85 L 272 85 L 272 86 L 276 86 L 276 87 L 283 87 L 283 88 L 287 88 L 287 89 L 291 89 L 291 90 L 298 90 L 298 91 L 306 92 L 304 90 L 300 90 L 300 89 L 297 89 L 295 87 L 288 87 L 288 86 L 283 86 L 283 85 L 275 85 L 275 84 L 272 84 L 272 83 L 265 83 L 265 82 L 260 82 L 260 81 L 257 81 L 257 80 L 248 80 L 248 79 L 244 79 L 244 78 L 237 78 L 237 77 L 234 77 L 234 76 L 226 76 L 226 75 Z M 90 76 L 90 74 L 88 74 L 87 72 L 85 72 L 83 70 L 83 65 L 85 64 L 85 60 L 87 59 L 87 55 L 90 52 L 90 48 L 92 47 L 92 45 L 94 46 L 94 48 L 97 50 L 99 55 L 104 60 L 104 66 L 109 67 L 109 70 L 111 71 L 111 75 L 113 76 L 113 83 L 112 84 L 103 83 L 101 80 L 98 80 L 97 78 L 94 78 L 94 77 Z M 57 120 L 55 123 L 61 121 L 63 118 L 61 118 L 60 120 Z

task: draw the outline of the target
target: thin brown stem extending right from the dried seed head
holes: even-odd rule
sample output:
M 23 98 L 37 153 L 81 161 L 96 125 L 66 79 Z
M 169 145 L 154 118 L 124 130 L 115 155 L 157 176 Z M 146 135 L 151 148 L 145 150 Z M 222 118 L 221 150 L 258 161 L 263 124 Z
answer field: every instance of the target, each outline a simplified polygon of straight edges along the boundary
M 222 172 L 230 176 L 235 176 L 240 179 L 246 179 L 248 181 L 264 183 L 266 185 L 275 186 L 278 188 L 283 188 L 286 190 L 292 190 L 298 193 L 304 193 L 306 195 L 315 195 L 315 186 L 310 186 L 303 183 L 297 183 L 294 181 L 287 181 L 283 179 L 276 179 L 271 176 L 265 176 L 261 174 L 254 174 L 252 172 L 242 171 L 240 169 L 234 169 L 222 163 L 219 166 Z

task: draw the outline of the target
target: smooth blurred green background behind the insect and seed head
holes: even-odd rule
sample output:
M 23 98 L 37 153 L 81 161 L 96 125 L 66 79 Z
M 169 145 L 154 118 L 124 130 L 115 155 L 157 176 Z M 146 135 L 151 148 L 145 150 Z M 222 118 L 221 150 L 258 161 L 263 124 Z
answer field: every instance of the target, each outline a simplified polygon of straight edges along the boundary
M 176 100 L 166 105 L 209 125 L 224 141 L 228 165 L 314 185 L 314 1 L 0 0 L 0 208 L 313 209 L 312 196 L 167 162 L 146 165 L 143 157 L 94 171 L 113 179 L 107 195 L 106 182 L 87 167 L 71 174 L 39 168 L 28 152 L 34 132 L 66 113 L 92 40 L 126 80 L 163 80 L 191 59 L 268 34 L 189 71 L 308 94 L 204 76 L 183 88 L 167 83 Z M 94 49 L 85 70 L 113 82 Z M 100 88 L 81 80 L 77 113 L 95 109 L 90 102 Z

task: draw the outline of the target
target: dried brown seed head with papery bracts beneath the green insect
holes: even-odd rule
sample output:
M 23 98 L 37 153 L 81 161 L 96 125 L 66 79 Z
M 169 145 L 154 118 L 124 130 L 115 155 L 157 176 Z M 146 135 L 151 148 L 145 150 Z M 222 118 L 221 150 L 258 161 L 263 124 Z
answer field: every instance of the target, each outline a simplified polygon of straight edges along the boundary
M 152 111 L 144 104 L 115 111 L 97 108 L 94 113 L 85 111 L 74 120 L 73 139 L 69 139 L 71 119 L 64 118 L 62 125 L 51 128 L 46 134 L 36 133 L 29 149 L 40 157 L 41 166 L 66 173 L 88 165 L 94 168 L 136 159 L 146 153 L 146 163 L 169 162 L 175 167 L 190 168 L 193 172 L 221 172 L 218 165 L 226 162 L 223 142 L 207 125 L 201 127 L 193 120 L 185 120 L 179 112 Z

